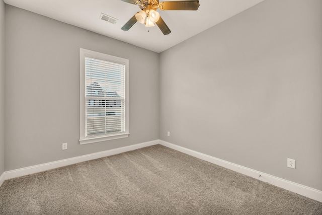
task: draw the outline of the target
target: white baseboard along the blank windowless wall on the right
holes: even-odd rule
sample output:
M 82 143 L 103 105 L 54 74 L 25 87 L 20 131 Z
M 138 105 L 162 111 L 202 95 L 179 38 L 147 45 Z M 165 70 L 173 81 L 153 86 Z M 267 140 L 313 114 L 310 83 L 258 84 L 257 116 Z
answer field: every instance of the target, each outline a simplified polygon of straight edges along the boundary
M 233 170 L 235 172 L 256 178 L 258 180 L 261 180 L 261 181 L 264 181 L 267 183 L 270 183 L 272 185 L 281 187 L 283 189 L 292 191 L 294 193 L 306 196 L 306 197 L 314 199 L 316 201 L 322 202 L 322 191 L 320 191 L 320 190 L 317 190 L 317 189 L 314 189 L 311 187 L 307 187 L 307 186 L 304 186 L 301 184 L 297 184 L 292 181 L 278 178 L 278 177 L 275 177 L 275 176 L 272 176 L 272 175 L 269 175 L 269 174 L 266 174 L 263 172 L 259 172 L 259 171 L 256 171 L 256 170 L 244 167 L 244 166 L 230 163 L 230 162 L 227 162 L 227 161 L 224 161 L 224 160 L 221 160 L 221 159 L 218 159 L 218 158 L 206 155 L 206 154 L 202 154 L 202 153 L 199 153 L 199 152 L 196 152 L 196 151 L 184 148 L 184 147 L 180 147 L 180 146 L 171 144 L 170 142 L 166 142 L 164 140 L 159 140 L 159 144 L 163 145 L 165 147 L 169 147 L 171 149 L 177 150 L 179 152 L 191 155 L 193 157 L 199 158 L 201 160 L 208 161 L 208 162 L 216 164 L 218 166 Z M 259 175 L 261 175 L 261 177 L 259 177 Z

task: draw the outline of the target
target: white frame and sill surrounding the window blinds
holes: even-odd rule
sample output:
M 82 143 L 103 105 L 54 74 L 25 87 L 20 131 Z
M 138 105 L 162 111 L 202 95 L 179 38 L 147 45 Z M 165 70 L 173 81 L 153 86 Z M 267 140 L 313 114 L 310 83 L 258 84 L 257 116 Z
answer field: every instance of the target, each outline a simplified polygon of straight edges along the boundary
M 125 65 L 125 131 L 122 133 L 112 133 L 102 136 L 86 137 L 85 136 L 85 106 L 86 106 L 86 84 L 85 84 L 85 57 L 91 57 L 99 60 L 119 63 Z M 103 54 L 79 48 L 79 144 L 92 144 L 94 142 L 126 138 L 129 133 L 129 60 L 121 57 Z

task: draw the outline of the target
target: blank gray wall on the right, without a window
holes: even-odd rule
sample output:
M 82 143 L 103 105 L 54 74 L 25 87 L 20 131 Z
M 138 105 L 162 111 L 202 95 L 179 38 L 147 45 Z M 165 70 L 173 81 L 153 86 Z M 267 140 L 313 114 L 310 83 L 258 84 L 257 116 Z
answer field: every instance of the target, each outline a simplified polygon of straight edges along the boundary
M 322 1 L 269 0 L 161 53 L 160 139 L 322 190 L 321 38 Z

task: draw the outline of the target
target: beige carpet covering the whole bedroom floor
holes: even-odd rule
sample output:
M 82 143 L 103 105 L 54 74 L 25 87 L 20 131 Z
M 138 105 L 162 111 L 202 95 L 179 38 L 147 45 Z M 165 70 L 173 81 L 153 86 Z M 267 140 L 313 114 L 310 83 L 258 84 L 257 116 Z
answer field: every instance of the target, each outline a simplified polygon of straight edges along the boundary
M 322 214 L 322 203 L 156 145 L 7 180 L 0 214 Z

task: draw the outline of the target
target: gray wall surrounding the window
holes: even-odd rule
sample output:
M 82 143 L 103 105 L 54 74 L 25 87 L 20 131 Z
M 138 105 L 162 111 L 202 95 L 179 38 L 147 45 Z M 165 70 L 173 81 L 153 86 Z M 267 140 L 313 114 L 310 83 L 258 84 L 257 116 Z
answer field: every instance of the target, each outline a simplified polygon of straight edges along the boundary
M 9 5 L 5 33 L 6 171 L 159 138 L 159 54 Z M 128 138 L 79 145 L 79 48 L 129 59 Z

